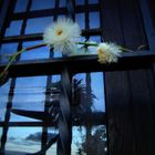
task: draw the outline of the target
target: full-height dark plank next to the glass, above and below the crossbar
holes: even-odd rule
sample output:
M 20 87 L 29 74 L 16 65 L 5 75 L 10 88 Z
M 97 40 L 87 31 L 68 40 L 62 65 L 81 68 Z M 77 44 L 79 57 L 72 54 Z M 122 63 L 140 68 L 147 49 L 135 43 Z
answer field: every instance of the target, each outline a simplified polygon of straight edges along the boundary
M 125 44 L 118 4 L 116 0 L 104 3 L 103 38 L 105 41 Z M 127 72 L 105 72 L 105 92 L 108 153 L 110 155 L 132 155 L 135 152 L 135 134 Z

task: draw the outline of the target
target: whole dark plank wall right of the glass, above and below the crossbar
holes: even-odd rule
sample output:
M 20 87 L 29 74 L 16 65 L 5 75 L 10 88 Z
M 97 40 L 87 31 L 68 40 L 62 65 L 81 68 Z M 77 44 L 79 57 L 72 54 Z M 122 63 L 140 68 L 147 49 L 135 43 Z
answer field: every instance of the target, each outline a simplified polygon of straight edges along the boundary
M 135 0 L 105 1 L 103 19 L 105 41 L 134 50 L 147 44 Z M 105 73 L 110 155 L 155 154 L 154 75 L 153 68 Z

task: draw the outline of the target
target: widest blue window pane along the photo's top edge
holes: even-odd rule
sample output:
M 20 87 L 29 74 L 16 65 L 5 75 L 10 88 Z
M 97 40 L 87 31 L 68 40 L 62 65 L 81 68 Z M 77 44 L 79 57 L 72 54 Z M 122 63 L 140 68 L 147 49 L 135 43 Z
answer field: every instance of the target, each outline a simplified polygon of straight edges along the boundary
M 54 8 L 55 0 L 32 0 L 31 10 Z

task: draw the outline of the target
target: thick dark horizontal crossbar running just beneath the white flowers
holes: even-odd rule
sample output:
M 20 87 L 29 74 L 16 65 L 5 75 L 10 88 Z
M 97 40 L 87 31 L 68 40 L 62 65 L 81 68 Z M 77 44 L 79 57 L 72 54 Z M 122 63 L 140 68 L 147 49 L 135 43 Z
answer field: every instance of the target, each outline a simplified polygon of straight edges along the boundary
M 151 68 L 155 53 L 148 51 L 123 53 L 117 63 L 100 64 L 97 55 L 79 55 L 69 58 L 43 59 L 17 62 L 10 66 L 9 76 L 33 76 L 60 74 L 65 64 L 72 73 L 93 71 L 121 71 Z M 0 72 L 6 64 L 0 65 Z

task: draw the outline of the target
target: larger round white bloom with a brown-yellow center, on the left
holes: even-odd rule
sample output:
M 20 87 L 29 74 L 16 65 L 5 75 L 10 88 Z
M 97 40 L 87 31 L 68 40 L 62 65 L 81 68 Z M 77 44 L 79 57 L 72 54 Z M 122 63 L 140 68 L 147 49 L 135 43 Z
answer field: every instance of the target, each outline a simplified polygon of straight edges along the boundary
M 75 44 L 81 34 L 81 29 L 78 23 L 71 19 L 60 18 L 46 28 L 43 34 L 44 42 L 54 48 L 54 51 L 60 51 L 66 54 L 74 52 Z

